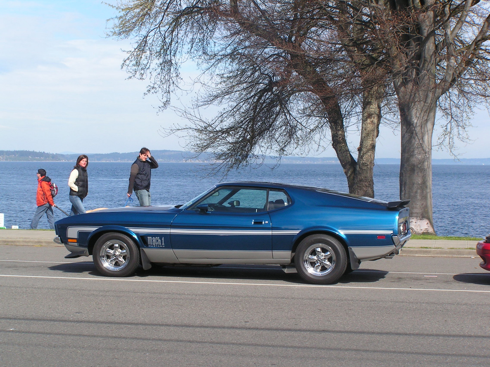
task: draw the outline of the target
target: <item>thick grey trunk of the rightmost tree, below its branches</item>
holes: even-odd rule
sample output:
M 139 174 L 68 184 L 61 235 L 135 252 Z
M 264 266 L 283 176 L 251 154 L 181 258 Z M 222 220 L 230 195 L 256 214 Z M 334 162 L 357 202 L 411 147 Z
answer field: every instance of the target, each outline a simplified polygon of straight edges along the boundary
M 416 100 L 409 97 L 412 99 L 410 103 L 399 105 L 400 199 L 410 199 L 410 226 L 419 234 L 435 234 L 432 218 L 432 133 L 436 108 L 428 97 L 415 97 Z

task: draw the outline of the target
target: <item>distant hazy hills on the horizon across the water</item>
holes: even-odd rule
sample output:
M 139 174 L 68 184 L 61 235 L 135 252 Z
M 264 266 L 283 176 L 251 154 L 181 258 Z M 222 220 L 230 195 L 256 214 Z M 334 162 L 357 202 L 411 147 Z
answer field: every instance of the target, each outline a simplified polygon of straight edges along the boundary
M 132 162 L 139 152 L 87 154 L 94 162 Z M 210 154 L 201 154 L 195 158 L 195 153 L 181 150 L 152 150 L 151 155 L 159 162 L 212 162 Z M 79 154 L 58 154 L 35 152 L 30 150 L 0 150 L 0 161 L 76 161 Z M 266 163 L 274 163 L 273 157 L 267 157 Z M 400 164 L 397 158 L 378 158 L 377 164 Z M 282 157 L 281 163 L 322 163 L 339 164 L 337 157 Z M 490 164 L 490 158 L 463 158 L 432 160 L 432 164 Z

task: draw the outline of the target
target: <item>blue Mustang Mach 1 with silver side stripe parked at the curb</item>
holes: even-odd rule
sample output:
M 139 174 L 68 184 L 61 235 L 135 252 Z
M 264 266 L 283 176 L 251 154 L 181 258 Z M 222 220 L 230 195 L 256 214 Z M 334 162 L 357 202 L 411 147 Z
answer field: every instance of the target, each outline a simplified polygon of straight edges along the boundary
M 184 205 L 122 207 L 56 222 L 67 258 L 93 255 L 103 275 L 138 266 L 278 264 L 330 284 L 361 261 L 391 258 L 410 239 L 408 200 L 319 187 L 217 184 Z

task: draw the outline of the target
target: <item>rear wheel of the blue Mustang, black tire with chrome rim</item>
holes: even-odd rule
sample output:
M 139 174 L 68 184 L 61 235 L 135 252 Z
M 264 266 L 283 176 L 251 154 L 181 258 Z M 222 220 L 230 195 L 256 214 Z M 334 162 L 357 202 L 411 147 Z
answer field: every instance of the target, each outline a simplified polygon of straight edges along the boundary
M 347 253 L 336 238 L 314 234 L 299 243 L 294 264 L 299 276 L 308 283 L 332 284 L 345 273 Z

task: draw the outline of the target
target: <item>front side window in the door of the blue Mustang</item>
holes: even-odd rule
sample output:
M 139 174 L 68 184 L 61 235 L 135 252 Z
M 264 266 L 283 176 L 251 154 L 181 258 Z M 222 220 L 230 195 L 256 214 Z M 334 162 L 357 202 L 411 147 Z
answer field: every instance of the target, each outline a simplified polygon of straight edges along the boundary
M 255 213 L 267 210 L 267 189 L 221 187 L 189 209 L 207 204 L 209 211 Z

